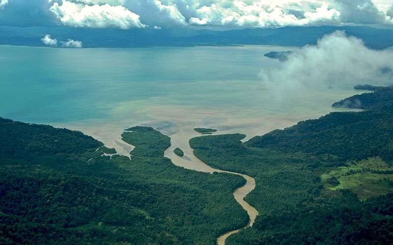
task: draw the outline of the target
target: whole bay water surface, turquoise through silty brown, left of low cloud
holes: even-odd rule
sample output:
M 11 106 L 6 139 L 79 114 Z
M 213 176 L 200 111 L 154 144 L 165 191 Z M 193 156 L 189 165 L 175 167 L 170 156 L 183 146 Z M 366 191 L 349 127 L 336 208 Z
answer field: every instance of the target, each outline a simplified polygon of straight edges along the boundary
M 320 88 L 275 99 L 258 74 L 280 61 L 263 54 L 296 49 L 0 46 L 0 116 L 81 130 L 120 153 L 129 149 L 116 141 L 132 125 L 154 126 L 180 147 L 197 135 L 194 127 L 250 138 L 318 118 L 357 93 Z

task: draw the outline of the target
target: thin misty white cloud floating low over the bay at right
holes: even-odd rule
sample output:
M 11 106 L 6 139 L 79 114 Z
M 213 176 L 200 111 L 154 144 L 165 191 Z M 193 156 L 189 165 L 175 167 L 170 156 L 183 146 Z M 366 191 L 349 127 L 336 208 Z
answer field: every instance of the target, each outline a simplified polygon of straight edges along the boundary
M 337 31 L 323 37 L 317 45 L 289 55 L 278 68 L 263 71 L 260 77 L 280 95 L 309 88 L 386 84 L 393 79 L 392 71 L 392 49 L 368 49 L 362 40 Z

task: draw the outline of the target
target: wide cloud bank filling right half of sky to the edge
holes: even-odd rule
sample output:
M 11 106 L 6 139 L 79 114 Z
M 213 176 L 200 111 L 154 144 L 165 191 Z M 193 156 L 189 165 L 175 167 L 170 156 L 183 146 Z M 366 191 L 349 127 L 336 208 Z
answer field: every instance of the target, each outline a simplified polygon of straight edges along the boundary
M 172 0 L 170 0 L 172 1 Z M 173 0 L 191 25 L 393 24 L 386 0 Z M 389 12 L 390 13 L 390 12 Z M 188 18 L 189 17 L 189 18 Z

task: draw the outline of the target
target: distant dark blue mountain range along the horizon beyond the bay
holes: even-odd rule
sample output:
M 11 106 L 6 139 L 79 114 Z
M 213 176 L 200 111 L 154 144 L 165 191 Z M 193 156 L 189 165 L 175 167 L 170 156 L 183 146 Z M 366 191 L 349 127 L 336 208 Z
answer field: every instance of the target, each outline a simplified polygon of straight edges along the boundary
M 176 29 L 94 29 L 76 27 L 0 27 L 0 45 L 45 46 L 41 38 L 50 34 L 58 41 L 83 42 L 84 48 L 190 47 L 278 45 L 302 47 L 336 30 L 361 38 L 372 49 L 393 47 L 393 29 L 368 26 L 309 26 L 249 28 L 226 31 Z

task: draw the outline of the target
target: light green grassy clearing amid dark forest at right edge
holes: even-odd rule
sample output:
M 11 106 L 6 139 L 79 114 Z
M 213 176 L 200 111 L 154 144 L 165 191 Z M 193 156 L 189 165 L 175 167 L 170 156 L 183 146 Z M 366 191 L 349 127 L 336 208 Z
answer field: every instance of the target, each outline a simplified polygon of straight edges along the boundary
M 326 188 L 349 189 L 363 200 L 393 191 L 393 168 L 381 158 L 351 161 L 347 165 L 321 175 Z

